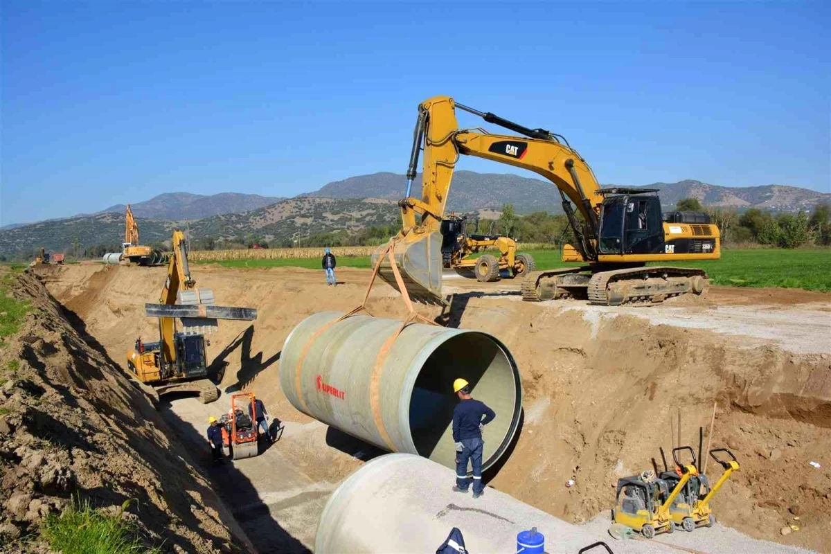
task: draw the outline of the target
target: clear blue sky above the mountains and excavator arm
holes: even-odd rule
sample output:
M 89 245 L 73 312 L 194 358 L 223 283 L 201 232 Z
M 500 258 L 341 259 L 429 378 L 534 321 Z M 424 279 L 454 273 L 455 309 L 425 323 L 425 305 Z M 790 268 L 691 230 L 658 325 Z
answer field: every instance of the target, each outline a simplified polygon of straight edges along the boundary
M 602 183 L 829 192 L 829 27 L 828 2 L 4 0 L 0 225 L 404 173 L 440 94 Z

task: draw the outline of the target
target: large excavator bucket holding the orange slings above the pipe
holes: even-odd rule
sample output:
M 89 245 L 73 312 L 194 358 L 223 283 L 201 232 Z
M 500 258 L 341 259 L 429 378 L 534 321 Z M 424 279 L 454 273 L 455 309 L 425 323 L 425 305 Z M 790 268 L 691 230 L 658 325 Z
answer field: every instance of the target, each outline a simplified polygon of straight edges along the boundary
M 407 294 L 415 302 L 425 304 L 443 304 L 441 297 L 441 233 L 420 234 L 411 233 L 404 238 L 393 241 L 392 257 L 401 276 L 391 266 L 388 249 L 389 244 L 372 254 L 372 266 L 375 267 L 379 258 L 381 267 L 378 275 L 389 283 L 396 291 L 401 291 L 401 285 L 406 288 Z

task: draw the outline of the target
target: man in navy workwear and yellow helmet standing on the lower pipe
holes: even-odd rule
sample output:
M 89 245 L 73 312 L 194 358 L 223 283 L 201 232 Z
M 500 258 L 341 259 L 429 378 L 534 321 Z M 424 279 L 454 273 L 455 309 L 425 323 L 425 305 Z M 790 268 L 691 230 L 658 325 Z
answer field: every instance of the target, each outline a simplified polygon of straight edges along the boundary
M 453 381 L 453 392 L 459 396 L 459 404 L 453 409 L 453 441 L 456 444 L 456 484 L 453 490 L 467 493 L 470 478 L 467 462 L 473 466 L 473 498 L 484 494 L 482 483 L 482 429 L 496 417 L 493 409 L 470 396 L 470 384 L 464 379 Z M 484 415 L 484 419 L 482 416 Z

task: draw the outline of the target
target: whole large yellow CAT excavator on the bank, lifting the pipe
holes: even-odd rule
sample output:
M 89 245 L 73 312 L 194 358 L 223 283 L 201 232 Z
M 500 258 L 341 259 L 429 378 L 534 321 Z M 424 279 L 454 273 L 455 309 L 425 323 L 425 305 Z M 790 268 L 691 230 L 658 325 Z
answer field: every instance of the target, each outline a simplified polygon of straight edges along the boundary
M 522 136 L 460 129 L 457 108 Z M 422 151 L 421 195 L 416 198 L 411 189 Z M 460 154 L 529 169 L 559 190 L 576 239 L 573 245 L 564 246 L 563 261 L 588 265 L 529 272 L 522 283 L 526 301 L 575 297 L 617 306 L 661 302 L 686 292 L 701 294 L 707 284 L 703 270 L 647 266 L 647 262 L 720 257 L 719 229 L 706 214 L 676 212 L 662 220 L 656 189 L 603 189 L 562 135 L 474 110 L 449 96 L 435 96 L 419 105 L 406 194 L 398 203 L 403 225 L 392 239 L 391 258 L 401 272 L 406 292 L 419 302 L 443 302 L 440 230 Z M 381 262 L 378 274 L 399 289 L 390 257 L 379 260 L 385 251 L 376 252 L 373 262 Z

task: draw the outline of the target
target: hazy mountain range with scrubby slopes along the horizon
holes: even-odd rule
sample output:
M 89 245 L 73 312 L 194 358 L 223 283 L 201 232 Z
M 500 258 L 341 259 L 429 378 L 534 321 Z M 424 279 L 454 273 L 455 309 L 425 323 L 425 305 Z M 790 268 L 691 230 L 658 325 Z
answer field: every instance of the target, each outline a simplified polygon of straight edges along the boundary
M 420 178 L 416 179 L 416 186 L 418 183 Z M 642 186 L 660 189 L 664 209 L 674 208 L 685 198 L 699 199 L 706 206 L 778 212 L 811 210 L 818 203 L 831 203 L 831 194 L 779 184 L 723 187 L 684 180 Z M 253 234 L 283 243 L 314 233 L 339 229 L 352 232 L 396 223 L 396 201 L 404 196 L 405 189 L 404 175 L 377 173 L 329 183 L 293 199 L 239 193 L 169 193 L 133 203 L 131 208 L 140 226 L 142 243 L 163 243 L 170 239 L 175 227 L 188 228 L 193 238 Z M 455 172 L 448 211 L 494 217 L 505 203 L 513 203 L 518 213 L 562 213 L 559 193 L 547 181 L 514 174 Z M 66 251 L 76 241 L 81 249 L 95 244 L 120 244 L 124 237 L 124 209 L 123 204 L 116 204 L 93 214 L 7 225 L 0 228 L 0 254 L 28 256 L 40 247 Z

